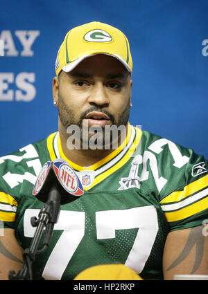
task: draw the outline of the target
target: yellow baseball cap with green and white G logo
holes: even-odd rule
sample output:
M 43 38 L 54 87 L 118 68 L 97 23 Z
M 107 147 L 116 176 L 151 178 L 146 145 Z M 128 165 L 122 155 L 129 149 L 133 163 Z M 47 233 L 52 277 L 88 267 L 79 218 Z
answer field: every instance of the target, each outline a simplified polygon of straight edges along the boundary
M 127 37 L 108 24 L 92 21 L 69 30 L 55 61 L 55 72 L 69 73 L 83 59 L 95 54 L 111 55 L 132 73 L 132 57 Z

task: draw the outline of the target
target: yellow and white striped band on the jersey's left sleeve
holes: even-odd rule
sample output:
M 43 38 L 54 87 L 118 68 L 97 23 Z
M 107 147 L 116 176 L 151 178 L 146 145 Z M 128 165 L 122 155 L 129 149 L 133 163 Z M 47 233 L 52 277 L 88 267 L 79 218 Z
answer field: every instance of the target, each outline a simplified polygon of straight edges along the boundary
M 0 219 L 1 221 L 15 221 L 17 201 L 4 192 L 0 192 Z

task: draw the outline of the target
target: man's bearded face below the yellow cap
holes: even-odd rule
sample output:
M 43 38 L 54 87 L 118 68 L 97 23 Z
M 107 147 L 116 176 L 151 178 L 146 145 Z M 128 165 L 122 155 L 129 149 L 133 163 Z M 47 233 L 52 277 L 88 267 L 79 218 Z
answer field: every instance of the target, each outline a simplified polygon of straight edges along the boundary
M 77 125 L 105 129 L 127 125 L 132 81 L 123 64 L 109 55 L 84 59 L 70 73 L 53 80 L 53 98 L 58 97 L 60 127 Z

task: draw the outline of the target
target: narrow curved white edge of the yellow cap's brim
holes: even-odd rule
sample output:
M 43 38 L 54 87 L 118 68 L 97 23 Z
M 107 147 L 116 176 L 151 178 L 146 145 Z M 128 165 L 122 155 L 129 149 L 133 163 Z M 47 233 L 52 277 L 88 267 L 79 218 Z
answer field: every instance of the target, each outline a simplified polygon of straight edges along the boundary
M 125 62 L 125 60 L 123 60 L 123 58 L 121 56 L 116 55 L 116 54 L 101 53 L 101 52 L 94 53 L 94 54 L 85 54 L 85 55 L 79 57 L 78 59 L 74 60 L 73 62 L 70 62 L 70 64 L 63 66 L 62 71 L 64 71 L 65 73 L 69 73 L 70 71 L 73 71 L 73 69 L 76 68 L 76 66 L 78 66 L 78 64 L 80 64 L 80 62 L 82 62 L 84 59 L 92 57 L 94 55 L 98 55 L 98 54 L 104 54 L 104 55 L 109 55 L 109 56 L 115 57 L 116 59 L 119 60 L 119 62 L 121 62 L 125 66 L 125 68 L 130 73 L 132 73 L 132 69 L 130 68 L 130 66 L 128 66 L 128 63 Z

